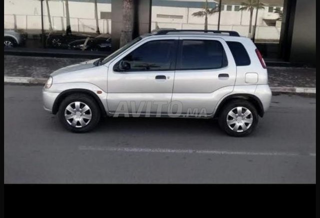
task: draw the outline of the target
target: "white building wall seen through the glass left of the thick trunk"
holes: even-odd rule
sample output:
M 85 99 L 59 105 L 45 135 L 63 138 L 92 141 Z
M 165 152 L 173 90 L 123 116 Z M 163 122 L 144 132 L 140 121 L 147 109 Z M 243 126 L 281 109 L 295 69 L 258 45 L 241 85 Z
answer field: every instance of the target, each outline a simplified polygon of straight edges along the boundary
M 53 30 L 65 30 L 65 2 L 48 1 Z M 39 0 L 4 0 L 4 29 L 41 30 L 41 5 Z M 111 12 L 111 4 L 97 4 L 100 33 L 111 33 L 111 20 L 100 19 L 100 12 Z M 95 32 L 94 3 L 69 1 L 72 31 Z M 49 29 L 47 8 L 43 1 L 43 26 Z

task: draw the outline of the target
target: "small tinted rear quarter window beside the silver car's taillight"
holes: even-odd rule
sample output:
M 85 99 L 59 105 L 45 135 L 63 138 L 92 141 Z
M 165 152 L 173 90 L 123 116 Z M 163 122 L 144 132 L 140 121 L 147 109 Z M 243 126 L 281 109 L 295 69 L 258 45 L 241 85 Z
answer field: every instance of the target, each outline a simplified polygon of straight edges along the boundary
M 231 50 L 236 66 L 250 65 L 250 58 L 244 46 L 239 42 L 226 42 Z

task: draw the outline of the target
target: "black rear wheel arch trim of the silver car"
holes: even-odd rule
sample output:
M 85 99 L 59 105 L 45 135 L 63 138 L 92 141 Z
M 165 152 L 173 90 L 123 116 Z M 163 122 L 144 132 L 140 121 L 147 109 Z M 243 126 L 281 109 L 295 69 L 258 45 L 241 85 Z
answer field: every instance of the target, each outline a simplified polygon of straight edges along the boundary
M 260 117 L 263 117 L 263 115 L 264 115 L 263 105 L 262 105 L 259 98 L 257 98 L 256 96 L 254 96 L 252 94 L 233 94 L 233 95 L 229 95 L 229 96 L 225 97 L 220 102 L 220 104 L 218 105 L 218 107 L 214 113 L 214 118 L 219 116 L 221 109 L 224 107 L 224 105 L 226 105 L 228 102 L 230 102 L 234 99 L 244 99 L 244 100 L 251 102 L 253 104 L 253 106 L 256 108 L 258 115 Z

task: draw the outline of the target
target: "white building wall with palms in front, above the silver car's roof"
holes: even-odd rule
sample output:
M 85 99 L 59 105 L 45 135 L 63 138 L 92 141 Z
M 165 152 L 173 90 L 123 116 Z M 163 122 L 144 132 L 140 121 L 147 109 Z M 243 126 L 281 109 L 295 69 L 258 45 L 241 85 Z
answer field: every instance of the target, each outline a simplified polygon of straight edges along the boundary
M 203 29 L 204 28 L 204 17 L 194 17 L 192 14 L 198 12 L 201 9 L 195 8 L 173 8 L 173 7 L 152 7 L 151 16 L 151 30 L 155 29 L 156 24 L 159 28 L 175 28 L 175 29 Z M 254 10 L 252 16 L 252 26 L 255 22 Z M 180 15 L 183 16 L 182 19 L 168 19 L 168 18 L 157 18 L 156 15 Z M 269 13 L 268 7 L 264 10 L 258 11 L 257 17 L 257 29 L 256 29 L 256 39 L 260 40 L 279 40 L 281 23 L 277 22 L 276 27 L 269 27 L 265 24 L 263 19 L 276 19 L 278 15 L 275 13 Z M 232 11 L 226 11 L 226 6 L 224 6 L 224 11 L 221 12 L 220 18 L 220 30 L 233 30 L 237 31 L 241 36 L 248 36 L 249 31 L 249 20 L 250 13 L 248 11 L 234 11 L 234 6 L 232 6 Z M 208 29 L 216 30 L 218 24 L 218 13 L 208 16 Z M 252 28 L 253 30 L 253 28 Z

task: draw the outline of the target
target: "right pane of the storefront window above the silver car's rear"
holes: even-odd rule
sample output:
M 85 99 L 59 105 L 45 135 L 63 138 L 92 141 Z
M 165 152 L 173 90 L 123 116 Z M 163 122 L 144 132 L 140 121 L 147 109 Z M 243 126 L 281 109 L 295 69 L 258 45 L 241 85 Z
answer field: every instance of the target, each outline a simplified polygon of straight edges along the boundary
M 283 0 L 222 0 L 221 4 L 232 5 L 234 10 L 221 11 L 220 30 L 249 37 L 264 58 L 278 58 Z

